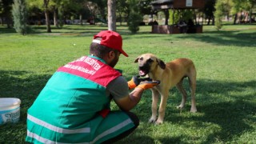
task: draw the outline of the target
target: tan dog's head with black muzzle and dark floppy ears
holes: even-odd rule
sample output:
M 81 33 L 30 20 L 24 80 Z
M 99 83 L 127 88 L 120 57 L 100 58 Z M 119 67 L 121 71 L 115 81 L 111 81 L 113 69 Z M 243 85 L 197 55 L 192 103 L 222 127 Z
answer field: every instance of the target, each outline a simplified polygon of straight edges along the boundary
M 139 75 L 142 77 L 157 70 L 158 66 L 163 70 L 166 69 L 165 62 L 157 58 L 154 54 L 142 54 L 141 56 L 138 56 L 134 62 L 138 62 Z

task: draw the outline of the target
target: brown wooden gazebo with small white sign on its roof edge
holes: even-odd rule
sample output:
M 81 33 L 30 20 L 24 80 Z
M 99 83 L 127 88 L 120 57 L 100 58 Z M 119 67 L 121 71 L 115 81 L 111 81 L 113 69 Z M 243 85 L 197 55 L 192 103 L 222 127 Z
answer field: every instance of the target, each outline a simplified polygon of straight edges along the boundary
M 150 3 L 153 10 L 164 10 L 166 15 L 166 25 L 152 26 L 154 34 L 180 34 L 178 26 L 168 25 L 168 10 L 202 9 L 205 6 L 205 0 L 157 0 Z M 174 16 L 173 16 L 174 18 Z M 202 33 L 202 26 L 194 26 L 194 33 Z

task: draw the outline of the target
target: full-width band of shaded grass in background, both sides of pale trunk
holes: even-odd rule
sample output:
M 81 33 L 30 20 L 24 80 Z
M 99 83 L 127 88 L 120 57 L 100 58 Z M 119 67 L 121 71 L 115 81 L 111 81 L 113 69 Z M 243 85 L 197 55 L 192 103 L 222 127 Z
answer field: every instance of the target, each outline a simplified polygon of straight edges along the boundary
M 83 37 L 85 35 L 94 35 L 101 30 L 107 30 L 107 26 L 72 26 L 66 25 L 62 29 L 58 29 L 55 26 L 51 26 L 52 33 L 46 33 L 46 26 L 32 26 L 31 34 L 44 34 L 44 35 L 72 35 L 75 37 Z M 0 31 L 3 34 L 15 33 L 13 28 L 7 29 L 4 26 L 0 26 Z M 118 33 L 122 36 L 131 35 L 130 31 L 123 29 L 122 27 L 117 28 Z M 222 46 L 248 46 L 256 47 L 254 39 L 256 38 L 255 30 L 229 30 L 229 31 L 217 31 L 217 30 L 206 30 L 202 34 L 150 34 L 150 31 L 138 31 L 137 38 L 166 38 L 166 41 L 171 41 L 173 38 L 190 38 L 194 41 L 214 43 Z M 136 34 L 135 34 L 136 35 Z M 170 37 L 166 37 L 169 35 Z M 126 37 L 124 39 L 129 39 Z

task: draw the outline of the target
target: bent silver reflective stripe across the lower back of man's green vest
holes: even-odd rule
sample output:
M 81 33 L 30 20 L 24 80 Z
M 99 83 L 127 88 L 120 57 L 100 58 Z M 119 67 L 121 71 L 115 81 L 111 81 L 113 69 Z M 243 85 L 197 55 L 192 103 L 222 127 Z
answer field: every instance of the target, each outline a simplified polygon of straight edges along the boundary
M 38 118 L 34 118 L 32 115 L 28 114 L 27 115 L 27 119 L 29 119 L 31 122 L 34 122 L 40 126 L 44 126 L 49 130 L 53 130 L 55 132 L 58 133 L 62 133 L 62 134 L 77 134 L 77 133 L 90 133 L 90 127 L 85 127 L 85 128 L 81 128 L 81 129 L 74 129 L 74 130 L 69 130 L 69 129 L 62 129 L 60 127 L 57 126 L 53 126 L 50 123 L 44 122 Z

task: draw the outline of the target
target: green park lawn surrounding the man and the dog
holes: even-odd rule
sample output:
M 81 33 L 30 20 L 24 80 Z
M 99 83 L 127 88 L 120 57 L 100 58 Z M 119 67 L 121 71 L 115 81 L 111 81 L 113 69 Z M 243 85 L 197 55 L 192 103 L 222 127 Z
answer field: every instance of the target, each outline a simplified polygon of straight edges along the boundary
M 175 107 L 181 95 L 170 90 L 165 122 L 148 123 L 151 94 L 147 90 L 132 111 L 141 124 L 118 143 L 256 143 L 256 26 L 223 26 L 215 30 L 204 26 L 203 34 L 150 34 L 142 26 L 130 34 L 118 26 L 123 48 L 129 58 L 121 57 L 116 68 L 125 78 L 138 74 L 134 59 L 152 53 L 167 62 L 191 58 L 198 71 L 198 113 L 190 113 L 190 98 L 184 110 Z M 64 26 L 45 33 L 34 26 L 33 34 L 22 36 L 0 26 L 0 97 L 22 100 L 17 124 L 0 126 L 0 143 L 25 143 L 26 110 L 34 102 L 51 74 L 66 62 L 89 52 L 92 35 L 106 26 Z M 184 82 L 188 90 L 187 82 Z M 114 110 L 117 106 L 111 103 Z

